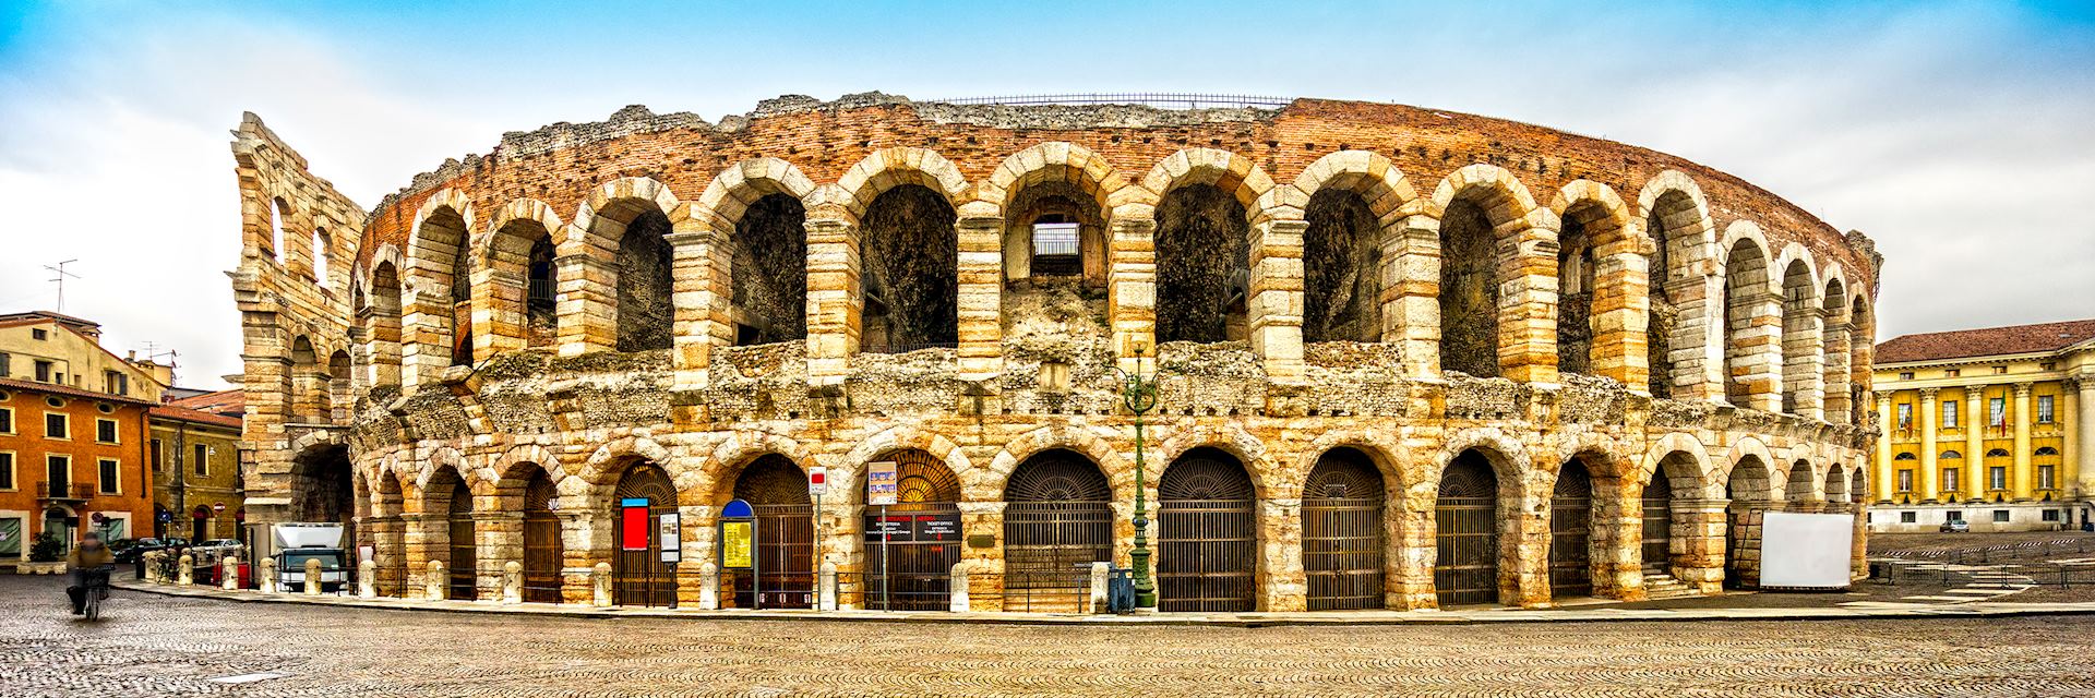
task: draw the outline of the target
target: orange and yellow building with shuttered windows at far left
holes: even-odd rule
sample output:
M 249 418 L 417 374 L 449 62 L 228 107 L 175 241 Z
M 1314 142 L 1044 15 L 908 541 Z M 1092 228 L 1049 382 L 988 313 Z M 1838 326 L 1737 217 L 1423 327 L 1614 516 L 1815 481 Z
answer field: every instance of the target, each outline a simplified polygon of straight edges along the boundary
M 0 314 L 0 566 L 27 562 L 44 532 L 69 549 L 88 530 L 151 530 L 147 409 L 161 386 L 98 340 L 88 321 Z

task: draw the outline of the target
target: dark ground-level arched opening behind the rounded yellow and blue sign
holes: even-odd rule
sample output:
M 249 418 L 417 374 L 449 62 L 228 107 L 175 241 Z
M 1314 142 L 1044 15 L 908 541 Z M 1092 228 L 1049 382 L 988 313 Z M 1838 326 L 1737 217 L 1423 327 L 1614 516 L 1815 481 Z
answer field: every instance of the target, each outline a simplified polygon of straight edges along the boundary
M 756 574 L 735 574 L 735 606 L 813 608 L 815 503 L 807 474 L 784 455 L 760 455 L 735 476 L 733 499 L 756 514 Z

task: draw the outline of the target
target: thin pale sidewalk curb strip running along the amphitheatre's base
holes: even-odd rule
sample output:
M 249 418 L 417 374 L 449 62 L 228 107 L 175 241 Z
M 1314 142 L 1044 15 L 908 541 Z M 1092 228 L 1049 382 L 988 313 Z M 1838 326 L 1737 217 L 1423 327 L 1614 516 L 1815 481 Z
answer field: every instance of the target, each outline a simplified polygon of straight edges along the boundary
M 842 623 L 987 623 L 987 625 L 1087 625 L 1087 627 L 1362 627 L 1362 625 L 1494 625 L 1494 623 L 1666 623 L 1666 620 L 1896 620 L 1896 618 L 2009 618 L 2009 616 L 2076 616 L 2095 614 L 2095 602 L 2076 604 L 1957 604 L 1925 608 L 1695 608 L 1695 610 L 1408 610 L 1408 612 L 1280 612 L 1280 614 L 1024 614 L 1024 612 L 878 612 L 878 610 L 666 610 L 666 608 L 587 608 L 490 602 L 417 602 L 262 595 L 256 591 L 224 591 L 212 587 L 174 587 L 138 581 L 115 583 L 124 591 L 218 599 L 233 604 L 306 604 L 367 610 L 427 610 L 459 614 L 526 614 L 566 618 L 685 618 L 685 620 L 842 620 Z

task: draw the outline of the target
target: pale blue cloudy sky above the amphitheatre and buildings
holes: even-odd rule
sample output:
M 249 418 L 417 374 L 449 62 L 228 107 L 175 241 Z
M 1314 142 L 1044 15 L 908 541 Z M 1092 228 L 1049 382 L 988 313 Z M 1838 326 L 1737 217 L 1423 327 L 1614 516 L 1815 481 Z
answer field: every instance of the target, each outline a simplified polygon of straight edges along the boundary
M 2095 317 L 2095 4 L 0 0 L 0 310 L 239 371 L 228 134 L 371 205 L 505 130 L 884 90 L 1395 101 L 1676 153 L 1890 258 L 1881 337 Z M 2070 264 L 2070 266 L 2061 266 Z M 2032 272 L 2034 270 L 2034 272 Z

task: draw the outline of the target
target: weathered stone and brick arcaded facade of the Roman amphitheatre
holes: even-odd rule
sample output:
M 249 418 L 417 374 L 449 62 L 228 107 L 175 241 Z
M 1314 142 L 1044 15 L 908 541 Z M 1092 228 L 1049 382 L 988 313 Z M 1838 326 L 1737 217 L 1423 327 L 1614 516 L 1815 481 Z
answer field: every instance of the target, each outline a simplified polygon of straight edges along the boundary
M 1381 480 L 1343 495 L 1374 501 L 1374 545 L 1349 558 L 1374 572 L 1366 606 L 1452 602 L 1435 572 L 1458 574 L 1458 461 L 1485 470 L 1464 478 L 1485 482 L 1490 553 L 1467 562 L 1500 604 L 1546 606 L 1575 576 L 1617 599 L 1647 574 L 1756 585 L 1770 509 L 1854 514 L 1862 568 L 1881 260 L 1663 153 L 1397 105 L 874 92 L 507 134 L 369 214 L 253 115 L 235 155 L 247 516 L 354 522 L 379 593 L 465 562 L 450 595 L 492 599 L 507 562 L 530 576 L 555 549 L 557 597 L 589 604 L 599 564 L 624 564 L 616 499 L 656 467 L 681 514 L 670 595 L 731 604 L 708 587 L 719 514 L 784 461 L 836 484 L 794 564 L 834 566 L 863 606 L 865 465 L 916 459 L 951 480 L 932 501 L 960 514 L 970 604 L 1018 608 L 1006 511 L 1043 455 L 1098 470 L 1129 562 L 1138 440 L 1112 369 L 1159 386 L 1140 457 L 1161 566 L 1188 555 L 1161 541 L 1175 463 L 1249 480 L 1249 553 L 1215 576 L 1249 581 L 1244 608 L 1320 604 L 1330 555 L 1305 549 L 1328 541 L 1305 520 L 1332 495 L 1305 482 L 1335 457 Z M 1043 222 L 1075 224 L 1068 252 Z M 1569 465 L 1588 488 L 1559 490 Z

